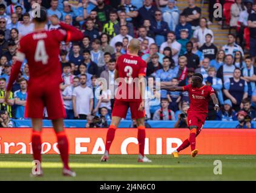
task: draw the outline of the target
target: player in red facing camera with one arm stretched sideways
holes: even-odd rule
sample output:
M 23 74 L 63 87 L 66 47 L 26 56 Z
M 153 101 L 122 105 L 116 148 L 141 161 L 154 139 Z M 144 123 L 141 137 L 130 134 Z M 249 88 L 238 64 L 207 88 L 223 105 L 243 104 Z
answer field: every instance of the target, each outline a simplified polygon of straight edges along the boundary
M 218 112 L 218 100 L 211 86 L 203 85 L 202 74 L 194 74 L 191 84 L 183 87 L 177 86 L 161 86 L 161 89 L 169 91 L 188 91 L 190 106 L 188 109 L 188 128 L 190 130 L 189 138 L 186 139 L 176 151 L 172 154 L 174 157 L 179 157 L 179 151 L 184 150 L 189 145 L 191 146 L 191 156 L 195 157 L 199 152 L 195 149 L 195 137 L 202 130 L 205 119 L 208 116 L 208 103 L 212 99 L 215 104 L 214 110 Z

